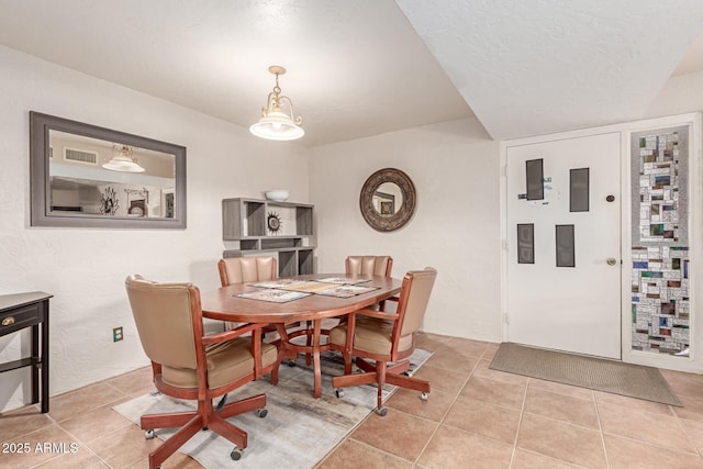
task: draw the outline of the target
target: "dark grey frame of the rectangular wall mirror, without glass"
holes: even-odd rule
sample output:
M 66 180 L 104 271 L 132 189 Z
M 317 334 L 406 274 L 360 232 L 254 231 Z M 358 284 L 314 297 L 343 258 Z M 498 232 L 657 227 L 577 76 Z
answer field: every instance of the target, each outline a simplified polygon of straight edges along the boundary
M 48 172 L 49 131 L 66 132 L 107 142 L 119 142 L 174 155 L 176 165 L 174 217 L 114 217 L 52 213 Z M 186 147 L 30 111 L 30 194 L 32 226 L 185 230 L 187 227 Z

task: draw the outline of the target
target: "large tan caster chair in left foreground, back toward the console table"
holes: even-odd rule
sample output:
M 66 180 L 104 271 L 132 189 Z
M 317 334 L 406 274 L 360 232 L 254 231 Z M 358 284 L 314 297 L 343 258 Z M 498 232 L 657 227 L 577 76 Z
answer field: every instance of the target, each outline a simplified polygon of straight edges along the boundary
M 180 427 L 149 455 L 149 468 L 160 467 L 202 429 L 236 445 L 230 456 L 239 459 L 247 434 L 226 418 L 250 411 L 266 416 L 266 394 L 227 403 L 227 393 L 266 373 L 277 383 L 277 347 L 261 342 L 260 325 L 255 324 L 205 335 L 200 290 L 192 283 L 159 283 L 133 275 L 125 288 L 156 389 L 175 399 L 198 401 L 192 412 L 142 415 L 146 438 L 154 437 L 156 428 Z

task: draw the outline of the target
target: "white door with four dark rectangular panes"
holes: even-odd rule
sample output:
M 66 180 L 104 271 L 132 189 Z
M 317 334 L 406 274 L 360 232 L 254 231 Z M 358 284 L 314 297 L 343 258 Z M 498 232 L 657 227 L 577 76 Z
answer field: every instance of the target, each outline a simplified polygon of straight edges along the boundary
M 509 342 L 621 358 L 620 155 L 618 133 L 507 147 Z

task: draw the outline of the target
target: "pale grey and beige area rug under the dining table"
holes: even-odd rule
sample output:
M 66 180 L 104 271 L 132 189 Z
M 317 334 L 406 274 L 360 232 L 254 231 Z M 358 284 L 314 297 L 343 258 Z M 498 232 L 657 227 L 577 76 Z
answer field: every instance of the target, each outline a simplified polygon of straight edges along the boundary
M 415 349 L 410 359 L 410 373 L 431 355 L 429 351 Z M 248 447 L 238 461 L 230 458 L 234 445 L 209 431 L 198 433 L 180 451 L 211 469 L 232 467 L 234 464 L 239 469 L 313 467 L 376 409 L 377 395 L 376 387 L 359 386 L 345 388 L 344 397 L 336 398 L 332 376 L 343 373 L 342 356 L 327 351 L 322 354 L 321 362 L 323 394 L 320 399 L 312 395 L 313 371 L 305 366 L 302 357 L 298 358 L 294 367 L 281 365 L 278 386 L 270 384 L 268 378 L 264 378 L 228 394 L 228 402 L 266 394 L 266 417 L 259 418 L 255 412 L 248 412 L 228 418 L 248 434 Z M 388 399 L 394 390 L 395 387 L 387 386 L 383 399 Z M 196 403 L 154 392 L 113 409 L 138 425 L 143 414 L 188 412 L 196 409 Z M 155 433 L 157 437 L 167 439 L 177 429 L 163 428 Z

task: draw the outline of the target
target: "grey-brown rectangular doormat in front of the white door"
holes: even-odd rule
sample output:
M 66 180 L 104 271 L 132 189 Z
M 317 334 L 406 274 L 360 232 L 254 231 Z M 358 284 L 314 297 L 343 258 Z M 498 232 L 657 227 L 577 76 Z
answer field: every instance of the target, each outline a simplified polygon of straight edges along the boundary
M 503 343 L 489 368 L 683 406 L 667 380 L 652 367 Z

